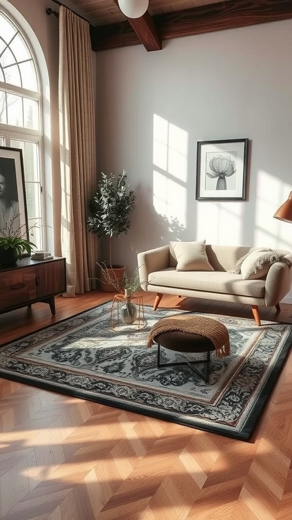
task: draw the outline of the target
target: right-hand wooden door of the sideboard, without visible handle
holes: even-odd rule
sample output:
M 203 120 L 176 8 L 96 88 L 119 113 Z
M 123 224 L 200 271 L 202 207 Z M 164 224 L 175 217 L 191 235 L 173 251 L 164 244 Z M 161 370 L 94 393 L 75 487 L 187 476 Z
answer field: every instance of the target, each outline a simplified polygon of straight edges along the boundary
M 66 291 L 65 259 L 39 264 L 36 269 L 37 298 Z

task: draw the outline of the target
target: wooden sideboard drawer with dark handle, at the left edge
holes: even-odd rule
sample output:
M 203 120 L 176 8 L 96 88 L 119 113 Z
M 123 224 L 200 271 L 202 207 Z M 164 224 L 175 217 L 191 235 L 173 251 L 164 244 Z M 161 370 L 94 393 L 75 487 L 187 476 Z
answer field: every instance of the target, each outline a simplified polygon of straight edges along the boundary
M 35 267 L 0 272 L 0 310 L 35 298 Z

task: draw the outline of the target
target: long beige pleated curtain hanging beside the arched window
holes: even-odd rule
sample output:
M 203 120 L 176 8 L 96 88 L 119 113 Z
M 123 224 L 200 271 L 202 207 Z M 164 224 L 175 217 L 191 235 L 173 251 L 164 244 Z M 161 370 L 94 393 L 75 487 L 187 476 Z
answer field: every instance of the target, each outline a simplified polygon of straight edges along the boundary
M 95 109 L 89 23 L 60 6 L 59 24 L 61 248 L 70 297 L 89 291 L 96 276 L 97 238 L 86 227 L 96 183 Z

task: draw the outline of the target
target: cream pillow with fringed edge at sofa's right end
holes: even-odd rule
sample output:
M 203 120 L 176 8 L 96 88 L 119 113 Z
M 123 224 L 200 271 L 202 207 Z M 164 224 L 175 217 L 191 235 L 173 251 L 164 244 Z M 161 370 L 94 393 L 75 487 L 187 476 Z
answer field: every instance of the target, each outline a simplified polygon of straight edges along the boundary
M 242 277 L 244 280 L 263 278 L 275 262 L 284 262 L 291 265 L 289 259 L 277 251 L 253 251 L 247 255 L 241 264 Z

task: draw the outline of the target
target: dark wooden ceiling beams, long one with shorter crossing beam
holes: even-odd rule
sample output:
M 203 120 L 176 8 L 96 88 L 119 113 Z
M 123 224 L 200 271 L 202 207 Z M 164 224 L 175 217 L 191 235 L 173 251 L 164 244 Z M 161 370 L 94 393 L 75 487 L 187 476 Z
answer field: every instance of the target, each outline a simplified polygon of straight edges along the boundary
M 161 41 L 171 38 L 288 18 L 292 18 L 292 0 L 230 0 L 153 17 L 147 12 L 141 18 L 91 28 L 91 46 L 98 51 L 143 43 L 147 50 L 158 50 Z

